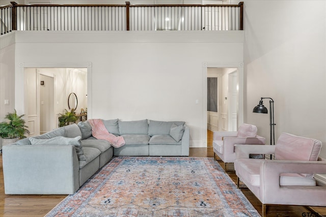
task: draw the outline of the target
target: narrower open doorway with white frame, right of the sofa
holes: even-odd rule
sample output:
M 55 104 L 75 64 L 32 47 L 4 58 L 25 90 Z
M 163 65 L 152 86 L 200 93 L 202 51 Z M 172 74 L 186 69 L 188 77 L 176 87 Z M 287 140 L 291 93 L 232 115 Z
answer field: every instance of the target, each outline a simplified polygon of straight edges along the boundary
M 243 123 L 243 64 L 203 64 L 203 145 L 212 131 L 236 131 Z M 214 79 L 216 85 L 208 82 Z M 217 86 L 217 87 L 216 87 Z M 211 111 L 209 96 L 214 88 L 217 109 Z M 205 102 L 204 102 L 205 101 Z

